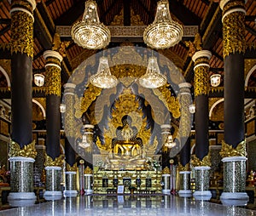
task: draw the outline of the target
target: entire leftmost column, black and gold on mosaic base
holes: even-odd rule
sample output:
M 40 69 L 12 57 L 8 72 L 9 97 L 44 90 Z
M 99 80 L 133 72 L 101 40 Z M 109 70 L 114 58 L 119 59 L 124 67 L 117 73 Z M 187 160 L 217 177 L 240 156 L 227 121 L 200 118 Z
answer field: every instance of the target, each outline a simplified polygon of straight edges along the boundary
M 11 141 L 9 204 L 33 203 L 32 58 L 34 0 L 13 0 L 11 16 Z M 21 90 L 20 90 L 21 89 Z M 17 202 L 18 201 L 18 202 Z M 23 203 L 22 203 L 23 202 Z

